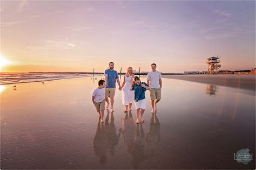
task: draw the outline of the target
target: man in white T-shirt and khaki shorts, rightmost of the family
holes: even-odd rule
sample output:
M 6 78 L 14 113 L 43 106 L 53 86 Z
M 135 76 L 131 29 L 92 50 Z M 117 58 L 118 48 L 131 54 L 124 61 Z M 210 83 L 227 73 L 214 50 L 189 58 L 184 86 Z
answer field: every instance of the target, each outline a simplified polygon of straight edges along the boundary
M 147 74 L 147 84 L 150 85 L 150 97 L 151 97 L 151 112 L 154 113 L 157 110 L 157 103 L 161 100 L 161 73 L 156 70 L 157 65 L 152 63 L 152 71 Z

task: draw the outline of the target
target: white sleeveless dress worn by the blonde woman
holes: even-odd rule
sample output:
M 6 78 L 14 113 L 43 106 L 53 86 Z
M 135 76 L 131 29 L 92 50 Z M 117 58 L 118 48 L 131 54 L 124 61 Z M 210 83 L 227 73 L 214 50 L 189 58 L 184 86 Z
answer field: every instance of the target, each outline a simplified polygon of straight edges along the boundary
M 122 100 L 124 105 L 128 105 L 129 103 L 132 103 L 134 100 L 134 91 L 131 91 L 131 81 L 132 76 L 127 77 L 124 75 L 125 84 L 122 89 Z

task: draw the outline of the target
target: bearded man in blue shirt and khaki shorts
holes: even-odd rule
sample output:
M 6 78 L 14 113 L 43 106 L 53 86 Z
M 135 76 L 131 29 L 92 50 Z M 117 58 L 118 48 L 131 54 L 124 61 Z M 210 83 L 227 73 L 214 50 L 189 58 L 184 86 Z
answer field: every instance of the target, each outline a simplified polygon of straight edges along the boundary
M 120 86 L 120 80 L 118 77 L 118 73 L 116 70 L 114 70 L 114 63 L 109 63 L 109 68 L 105 70 L 105 80 L 106 80 L 106 91 L 105 91 L 105 99 L 107 102 L 106 109 L 109 109 L 109 97 L 110 97 L 110 103 L 111 103 L 111 112 L 114 111 L 113 105 L 114 105 L 114 94 L 116 93 L 116 82 L 118 83 L 119 90 L 121 90 Z

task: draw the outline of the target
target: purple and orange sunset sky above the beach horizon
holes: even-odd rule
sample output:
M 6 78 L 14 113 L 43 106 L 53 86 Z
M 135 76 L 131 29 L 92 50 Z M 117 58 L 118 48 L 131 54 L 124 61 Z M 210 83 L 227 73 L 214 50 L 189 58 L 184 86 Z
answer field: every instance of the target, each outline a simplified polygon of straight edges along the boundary
M 255 67 L 255 2 L 1 1 L 2 72 Z

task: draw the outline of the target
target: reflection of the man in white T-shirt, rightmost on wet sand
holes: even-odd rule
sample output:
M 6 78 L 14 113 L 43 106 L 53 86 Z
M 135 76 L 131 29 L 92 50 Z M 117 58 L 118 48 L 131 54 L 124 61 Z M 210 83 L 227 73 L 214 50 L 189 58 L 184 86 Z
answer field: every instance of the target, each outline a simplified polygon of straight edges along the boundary
M 149 148 L 150 156 L 154 155 L 157 145 L 160 141 L 160 122 L 157 118 L 157 112 L 151 115 L 150 127 L 147 132 L 147 147 Z

